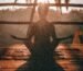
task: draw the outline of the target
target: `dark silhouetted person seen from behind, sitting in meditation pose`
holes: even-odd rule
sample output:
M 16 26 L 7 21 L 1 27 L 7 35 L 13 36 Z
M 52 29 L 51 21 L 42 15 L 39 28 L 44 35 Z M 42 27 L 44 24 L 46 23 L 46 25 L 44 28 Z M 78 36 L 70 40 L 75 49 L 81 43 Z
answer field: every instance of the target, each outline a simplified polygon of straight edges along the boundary
M 23 64 L 18 71 L 63 71 L 55 62 L 53 51 L 59 45 L 54 25 L 46 21 L 49 7 L 40 4 L 38 8 L 40 20 L 30 24 L 24 44 L 31 43 L 31 58 L 29 63 Z

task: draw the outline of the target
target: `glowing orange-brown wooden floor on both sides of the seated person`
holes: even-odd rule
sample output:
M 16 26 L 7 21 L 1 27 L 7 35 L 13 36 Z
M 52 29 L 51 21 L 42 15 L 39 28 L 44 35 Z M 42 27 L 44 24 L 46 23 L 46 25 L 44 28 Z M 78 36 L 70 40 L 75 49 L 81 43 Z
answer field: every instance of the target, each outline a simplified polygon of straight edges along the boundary
M 66 45 L 59 45 L 55 51 L 55 61 L 65 71 L 83 71 L 83 45 L 70 47 Z M 30 57 L 30 51 L 23 44 L 13 44 L 7 48 L 3 56 L 0 58 L 0 71 L 15 71 L 20 66 L 27 62 L 25 59 Z

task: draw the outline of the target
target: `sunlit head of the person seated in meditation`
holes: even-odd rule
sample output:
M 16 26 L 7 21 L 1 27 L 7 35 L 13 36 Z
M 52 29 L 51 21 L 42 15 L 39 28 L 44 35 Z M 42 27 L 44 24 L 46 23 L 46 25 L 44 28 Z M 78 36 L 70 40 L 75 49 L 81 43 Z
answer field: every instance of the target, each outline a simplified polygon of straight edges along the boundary
M 40 3 L 38 7 L 38 13 L 40 19 L 45 19 L 48 15 L 48 11 L 49 11 L 49 4 L 46 3 Z

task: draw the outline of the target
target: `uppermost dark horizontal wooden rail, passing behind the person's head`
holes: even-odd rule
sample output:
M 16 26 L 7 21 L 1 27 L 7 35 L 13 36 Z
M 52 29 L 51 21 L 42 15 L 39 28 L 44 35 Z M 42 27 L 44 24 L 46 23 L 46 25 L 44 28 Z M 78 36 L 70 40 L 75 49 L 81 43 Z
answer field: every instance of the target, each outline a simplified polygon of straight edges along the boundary
M 31 5 L 38 5 L 35 3 L 0 3 L 0 7 L 6 7 L 6 5 L 19 5 L 19 7 L 31 7 Z M 56 4 L 56 3 L 50 3 L 50 7 L 66 7 L 65 3 Z M 69 3 L 68 7 L 79 7 L 83 8 L 83 4 L 79 3 Z

